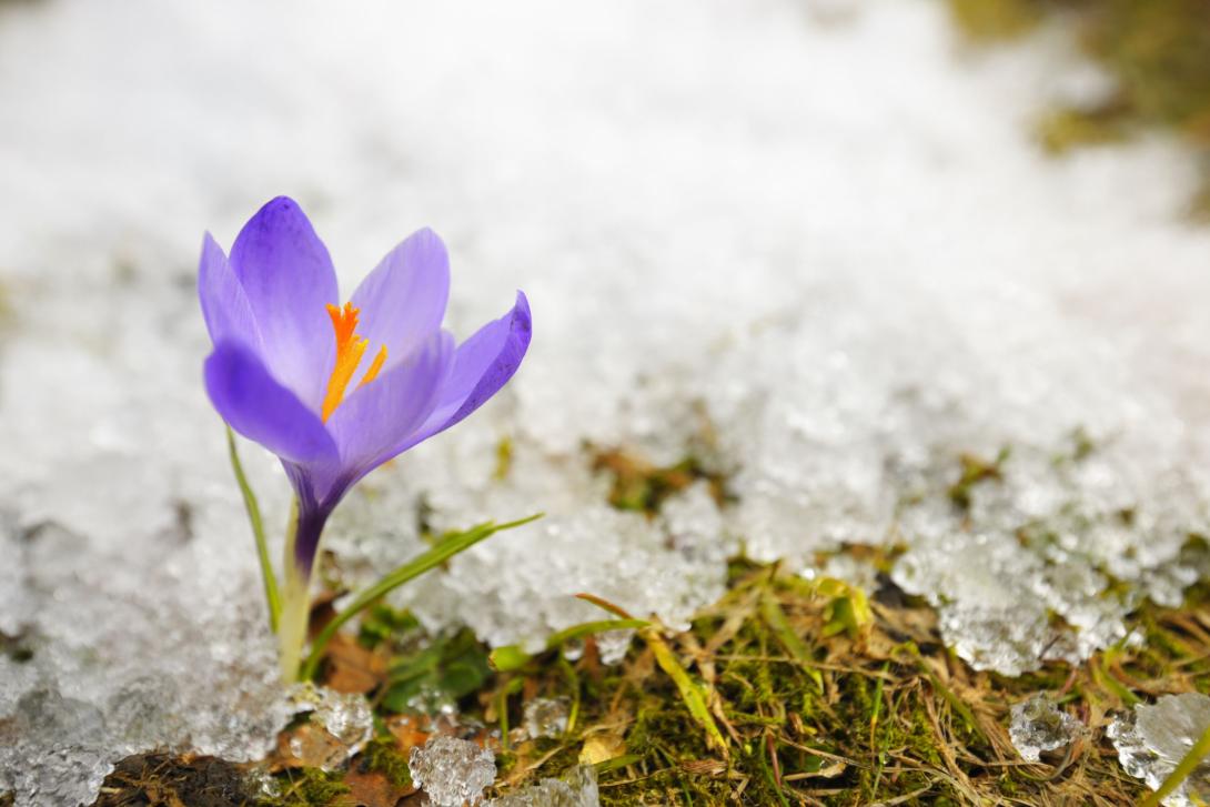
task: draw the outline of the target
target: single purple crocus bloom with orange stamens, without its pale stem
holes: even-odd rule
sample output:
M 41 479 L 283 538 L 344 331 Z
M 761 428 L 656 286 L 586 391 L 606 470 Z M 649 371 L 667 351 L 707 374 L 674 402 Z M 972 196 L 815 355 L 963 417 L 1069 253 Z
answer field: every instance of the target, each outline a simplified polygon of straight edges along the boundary
M 420 230 L 387 253 L 340 306 L 323 242 L 287 197 L 265 204 L 230 258 L 206 235 L 198 295 L 214 352 L 206 388 L 223 420 L 276 454 L 298 498 L 293 547 L 304 582 L 333 508 L 387 460 L 494 396 L 530 342 L 530 310 L 455 347 L 442 240 Z

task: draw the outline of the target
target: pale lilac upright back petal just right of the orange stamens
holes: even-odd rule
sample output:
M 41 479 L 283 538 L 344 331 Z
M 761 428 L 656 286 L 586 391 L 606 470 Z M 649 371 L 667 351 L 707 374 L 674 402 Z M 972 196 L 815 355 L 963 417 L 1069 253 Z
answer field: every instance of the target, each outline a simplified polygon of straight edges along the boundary
M 369 341 L 362 370 L 379 346 L 386 345 L 390 367 L 440 329 L 449 294 L 449 255 L 436 232 L 419 230 L 387 253 L 352 296 L 358 333 Z

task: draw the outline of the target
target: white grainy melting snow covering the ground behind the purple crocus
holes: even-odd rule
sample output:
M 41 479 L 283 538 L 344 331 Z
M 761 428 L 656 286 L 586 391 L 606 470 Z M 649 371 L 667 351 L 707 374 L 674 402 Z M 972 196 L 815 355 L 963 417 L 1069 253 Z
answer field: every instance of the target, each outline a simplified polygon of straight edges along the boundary
M 461 335 L 532 302 L 507 396 L 332 524 L 357 582 L 421 521 L 549 514 L 401 592 L 430 628 L 535 649 L 598 618 L 580 590 L 682 624 L 741 548 L 846 543 L 903 544 L 895 582 L 1009 674 L 1174 601 L 1210 500 L 1194 172 L 1045 160 L 1020 123 L 1084 65 L 951 35 L 899 0 L 0 7 L 0 791 L 255 756 L 284 720 L 192 290 L 201 230 L 283 192 L 346 279 L 432 225 Z M 617 512 L 615 448 L 733 503 Z

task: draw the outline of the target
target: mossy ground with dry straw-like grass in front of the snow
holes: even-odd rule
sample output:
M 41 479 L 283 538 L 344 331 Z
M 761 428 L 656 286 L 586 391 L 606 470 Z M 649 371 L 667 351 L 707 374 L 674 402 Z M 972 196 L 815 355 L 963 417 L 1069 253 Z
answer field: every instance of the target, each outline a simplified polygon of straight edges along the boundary
M 1198 538 L 1186 547 L 1191 561 L 1206 551 Z M 534 697 L 578 704 L 565 736 L 515 742 L 499 754 L 501 782 L 509 784 L 496 794 L 563 774 L 586 740 L 609 733 L 621 745 L 597 766 L 606 806 L 1136 803 L 1142 785 L 1123 776 L 1112 747 L 1096 739 L 1102 715 L 1164 692 L 1210 687 L 1202 627 L 1210 584 L 1191 589 L 1181 609 L 1142 605 L 1130 627 L 1147 636 L 1146 649 L 1110 649 L 1074 670 L 1049 664 L 1015 679 L 967 668 L 940 642 L 929 611 L 914 605 L 875 601 L 854 630 L 829 635 L 835 598 L 819 581 L 736 560 L 718 604 L 684 633 L 661 632 L 702 684 L 726 751 L 708 742 L 641 640 L 618 667 L 603 667 L 588 639 L 575 664 L 547 651 L 484 676 L 461 701 L 468 717 L 500 725 L 507 709 L 515 725 Z M 413 665 L 394 670 L 396 684 L 484 652 L 465 635 L 428 646 L 428 662 L 413 657 Z M 1020 765 L 1008 743 L 1009 708 L 1038 691 L 1059 694 L 1071 714 L 1101 720 L 1062 773 L 1058 757 Z M 384 709 L 381 697 L 376 702 Z M 404 755 L 390 737 L 371 742 L 352 765 L 407 782 Z M 339 774 L 292 778 L 293 789 L 272 807 L 328 803 L 342 789 Z

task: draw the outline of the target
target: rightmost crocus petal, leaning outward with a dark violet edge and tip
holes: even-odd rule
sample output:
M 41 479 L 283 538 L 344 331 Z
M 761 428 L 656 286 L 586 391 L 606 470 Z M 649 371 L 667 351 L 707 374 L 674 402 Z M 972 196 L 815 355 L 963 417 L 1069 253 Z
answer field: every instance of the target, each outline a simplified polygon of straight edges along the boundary
M 518 292 L 512 311 L 459 345 L 440 402 L 410 445 L 445 431 L 496 394 L 520 367 L 531 335 L 529 300 Z

